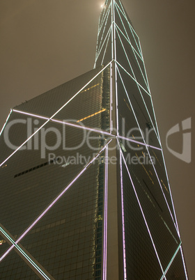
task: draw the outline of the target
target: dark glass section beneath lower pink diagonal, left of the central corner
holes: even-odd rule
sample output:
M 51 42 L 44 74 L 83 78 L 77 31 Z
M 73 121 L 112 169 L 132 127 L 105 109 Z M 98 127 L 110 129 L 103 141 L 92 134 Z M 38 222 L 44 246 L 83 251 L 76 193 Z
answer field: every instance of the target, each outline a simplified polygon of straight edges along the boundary
M 22 240 L 54 279 L 101 276 L 103 197 L 104 164 L 98 159 Z

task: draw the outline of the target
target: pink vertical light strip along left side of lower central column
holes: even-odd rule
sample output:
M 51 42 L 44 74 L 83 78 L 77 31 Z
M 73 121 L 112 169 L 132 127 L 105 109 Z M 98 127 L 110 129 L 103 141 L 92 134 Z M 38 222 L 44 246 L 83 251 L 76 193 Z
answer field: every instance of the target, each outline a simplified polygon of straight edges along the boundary
M 108 146 L 105 157 L 104 178 L 104 256 L 103 256 L 103 280 L 107 279 L 107 192 L 108 192 Z

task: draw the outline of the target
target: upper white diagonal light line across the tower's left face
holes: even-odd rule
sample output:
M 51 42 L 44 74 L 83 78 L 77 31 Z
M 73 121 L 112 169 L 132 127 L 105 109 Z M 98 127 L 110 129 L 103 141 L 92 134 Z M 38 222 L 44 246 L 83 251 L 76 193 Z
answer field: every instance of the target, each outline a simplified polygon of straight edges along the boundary
M 62 106 L 58 111 L 56 111 L 56 113 L 54 113 L 54 114 L 51 116 L 51 118 L 49 118 L 49 120 L 52 120 L 52 118 L 54 118 L 54 116 L 56 116 L 56 114 L 58 114 L 59 111 L 61 111 L 61 109 L 63 109 L 68 103 L 70 103 L 70 102 L 72 101 L 72 99 L 74 99 L 79 93 L 81 93 L 81 91 L 83 91 L 83 89 L 84 89 L 86 86 L 88 86 L 88 84 L 90 84 L 91 81 L 93 81 L 96 77 L 98 77 L 98 75 L 100 75 L 100 73 L 103 72 L 103 71 L 107 68 L 107 66 L 110 65 L 110 64 L 111 64 L 111 62 L 109 62 L 102 70 L 100 70 L 100 72 L 98 72 L 98 74 L 96 74 L 90 81 L 88 81 L 88 83 L 87 83 L 85 86 L 83 86 L 77 93 L 75 93 L 75 95 L 72 96 L 72 98 L 70 98 L 70 100 L 68 100 L 68 102 L 66 102 L 65 104 L 63 104 L 63 106 Z M 38 128 L 38 130 L 36 130 L 36 132 L 34 132 L 28 139 L 26 139 L 26 141 L 24 141 L 24 143 L 22 143 L 21 146 L 19 146 L 9 157 L 7 157 L 6 160 L 4 160 L 4 161 L 0 164 L 0 167 L 1 167 L 5 162 L 7 162 L 7 160 L 9 160 L 10 157 L 12 157 L 12 156 L 17 152 L 17 150 L 20 150 L 20 148 L 21 148 L 26 142 L 28 142 L 29 139 L 31 139 L 39 130 L 41 130 L 42 127 L 44 127 L 44 126 L 49 122 L 49 120 L 47 120 L 45 123 L 43 123 L 43 125 L 41 125 L 41 126 Z

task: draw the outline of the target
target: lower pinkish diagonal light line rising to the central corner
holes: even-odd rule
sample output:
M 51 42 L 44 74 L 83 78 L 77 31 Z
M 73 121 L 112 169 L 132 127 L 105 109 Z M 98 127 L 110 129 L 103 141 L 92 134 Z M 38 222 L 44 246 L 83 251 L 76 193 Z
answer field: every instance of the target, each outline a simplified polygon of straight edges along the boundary
M 33 226 L 35 226 L 38 221 L 40 221 L 40 219 L 42 219 L 42 217 L 52 208 L 52 206 L 59 201 L 59 199 L 61 199 L 61 196 L 63 196 L 63 194 L 65 194 L 65 192 L 68 191 L 68 189 L 70 189 L 70 187 L 74 184 L 74 182 L 77 181 L 77 179 L 84 173 L 84 171 L 86 171 L 86 169 L 88 168 L 89 165 L 93 164 L 93 162 L 97 159 L 97 157 L 100 156 L 100 154 L 103 152 L 103 150 L 109 145 L 109 143 L 112 141 L 112 139 L 100 150 L 100 152 L 98 153 L 98 155 L 96 155 L 95 157 L 93 157 L 93 159 L 91 160 L 91 162 L 89 162 L 88 164 L 86 164 L 86 166 L 84 167 L 84 169 L 82 169 L 79 174 L 70 182 L 70 184 L 65 187 L 65 189 L 63 189 L 63 191 L 56 197 L 56 199 L 54 199 L 54 201 L 52 201 L 52 203 L 49 204 L 49 206 L 47 206 L 47 208 L 45 208 L 45 210 L 42 212 L 42 214 L 35 220 L 33 221 L 33 223 L 31 224 L 31 226 L 29 226 L 29 228 L 26 229 L 26 231 L 24 231 L 24 233 L 22 233 L 22 235 L 20 235 L 20 238 L 18 238 L 15 241 L 15 244 L 19 243 L 22 238 L 24 238 L 24 236 L 29 233 L 29 231 L 31 231 L 31 229 L 33 228 Z M 12 245 L 0 258 L 0 263 L 1 260 L 3 260 L 3 258 L 5 258 L 7 256 L 7 254 L 13 249 L 13 247 L 15 247 L 15 245 Z

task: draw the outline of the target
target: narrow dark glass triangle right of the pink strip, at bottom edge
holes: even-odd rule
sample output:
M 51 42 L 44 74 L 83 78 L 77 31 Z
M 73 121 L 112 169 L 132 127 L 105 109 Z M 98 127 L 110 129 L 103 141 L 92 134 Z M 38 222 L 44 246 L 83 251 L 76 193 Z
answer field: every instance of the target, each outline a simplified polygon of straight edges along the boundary
M 160 279 L 162 270 L 124 163 L 123 200 L 127 279 Z

